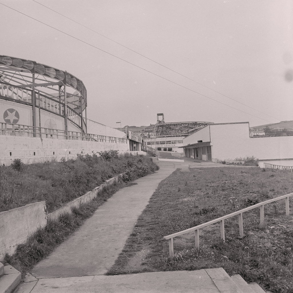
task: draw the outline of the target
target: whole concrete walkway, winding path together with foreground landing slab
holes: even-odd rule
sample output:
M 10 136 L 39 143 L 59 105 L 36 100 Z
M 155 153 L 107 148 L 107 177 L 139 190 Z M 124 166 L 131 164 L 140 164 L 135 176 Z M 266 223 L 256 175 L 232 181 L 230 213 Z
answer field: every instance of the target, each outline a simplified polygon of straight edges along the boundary
M 40 261 L 14 293 L 264 292 L 247 291 L 247 287 L 242 291 L 222 268 L 104 275 L 122 251 L 138 216 L 159 183 L 176 168 L 183 167 L 182 162 L 157 163 L 160 169 L 156 173 L 139 178 L 134 181 L 137 185 L 115 193 L 84 222 L 81 229 Z M 190 167 L 188 162 L 184 165 L 187 166 L 183 169 Z M 4 292 L 11 291 L 1 291 L 0 286 L 0 293 Z

